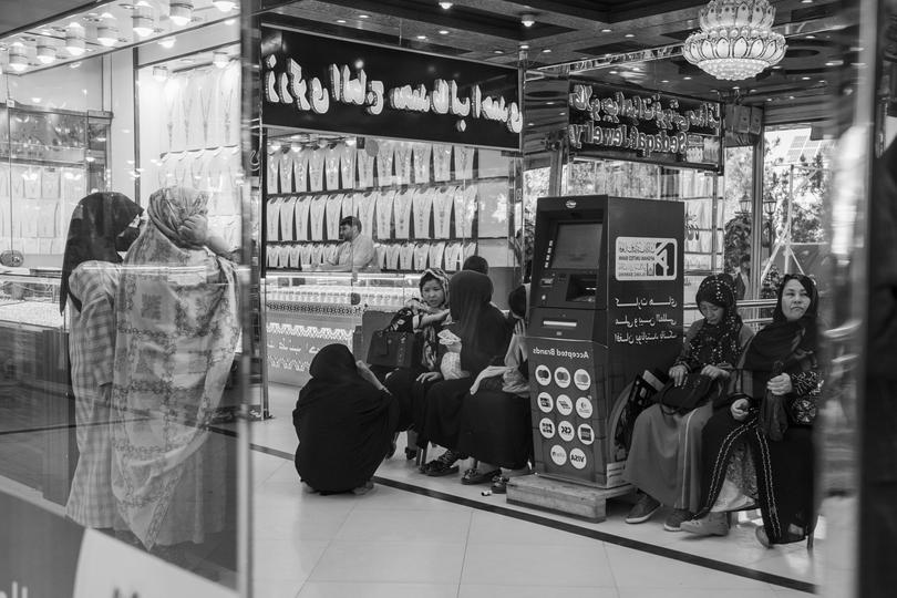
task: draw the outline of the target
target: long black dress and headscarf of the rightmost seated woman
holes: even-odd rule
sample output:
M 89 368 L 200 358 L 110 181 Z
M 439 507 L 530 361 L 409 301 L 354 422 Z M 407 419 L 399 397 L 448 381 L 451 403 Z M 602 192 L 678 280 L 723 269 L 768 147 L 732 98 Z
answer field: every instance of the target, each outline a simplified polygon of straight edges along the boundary
M 810 308 L 797 321 L 787 321 L 782 312 L 782 289 L 791 279 L 797 279 L 811 298 Z M 817 305 L 818 295 L 810 278 L 784 277 L 773 322 L 757 332 L 744 357 L 743 390 L 752 398 L 750 415 L 741 422 L 732 417 L 729 406 L 735 399 L 733 395 L 716 405 L 719 411 L 704 426 L 702 508 L 697 517 L 703 517 L 713 507 L 730 463 L 739 448 L 746 445 L 756 472 L 751 482 L 756 486 L 770 542 L 794 542 L 812 532 L 815 520 L 812 426 L 822 384 L 815 357 Z M 791 377 L 793 391 L 782 398 L 787 430 L 781 440 L 773 440 L 759 408 L 769 400 L 766 383 L 779 373 Z

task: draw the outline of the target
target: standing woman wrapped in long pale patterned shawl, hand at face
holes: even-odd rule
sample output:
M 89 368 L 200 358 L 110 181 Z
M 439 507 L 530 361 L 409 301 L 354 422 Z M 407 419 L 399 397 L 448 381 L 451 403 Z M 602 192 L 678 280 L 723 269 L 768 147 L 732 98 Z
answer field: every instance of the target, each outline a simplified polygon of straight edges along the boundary
M 113 492 L 147 548 L 224 527 L 224 466 L 205 424 L 239 334 L 234 265 L 208 251 L 208 197 L 169 187 L 124 261 L 115 303 Z M 219 468 L 219 470 L 216 470 Z

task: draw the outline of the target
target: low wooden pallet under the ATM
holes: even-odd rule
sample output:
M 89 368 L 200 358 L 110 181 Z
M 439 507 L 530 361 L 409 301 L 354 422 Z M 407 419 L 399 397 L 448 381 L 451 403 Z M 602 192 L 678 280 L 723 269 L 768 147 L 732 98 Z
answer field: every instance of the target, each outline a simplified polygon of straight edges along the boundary
M 598 488 L 544 475 L 524 475 L 508 481 L 507 502 L 599 523 L 607 518 L 608 498 L 623 496 L 635 489 L 631 484 Z

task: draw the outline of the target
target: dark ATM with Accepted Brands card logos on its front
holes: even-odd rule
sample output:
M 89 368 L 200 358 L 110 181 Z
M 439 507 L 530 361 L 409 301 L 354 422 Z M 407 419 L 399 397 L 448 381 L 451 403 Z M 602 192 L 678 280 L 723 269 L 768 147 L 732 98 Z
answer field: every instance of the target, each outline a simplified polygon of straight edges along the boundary
M 682 347 L 683 234 L 678 202 L 538 200 L 527 339 L 542 476 L 623 484 L 622 391 Z

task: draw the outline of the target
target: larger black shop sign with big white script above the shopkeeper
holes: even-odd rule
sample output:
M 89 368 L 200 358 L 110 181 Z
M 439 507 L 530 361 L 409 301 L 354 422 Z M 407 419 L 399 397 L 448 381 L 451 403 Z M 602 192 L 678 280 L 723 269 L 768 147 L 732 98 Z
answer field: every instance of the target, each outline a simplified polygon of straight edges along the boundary
M 517 71 L 262 29 L 266 125 L 517 150 Z

